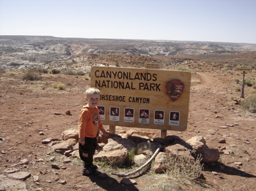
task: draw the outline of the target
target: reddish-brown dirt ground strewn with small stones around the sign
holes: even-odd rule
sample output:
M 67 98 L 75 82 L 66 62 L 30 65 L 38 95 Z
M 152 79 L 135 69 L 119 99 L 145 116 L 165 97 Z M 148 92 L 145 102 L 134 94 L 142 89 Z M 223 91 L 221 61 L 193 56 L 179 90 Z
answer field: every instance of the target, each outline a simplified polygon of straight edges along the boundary
M 246 75 L 255 80 L 255 72 Z M 63 131 L 77 128 L 89 80 L 83 76 L 43 74 L 41 81 L 23 81 L 21 76 L 11 72 L 0 74 L 0 174 L 6 175 L 7 168 L 28 171 L 31 177 L 23 181 L 28 190 L 154 190 L 149 187 L 157 179 L 147 179 L 147 174 L 135 177 L 135 185 L 123 185 L 122 178 L 109 172 L 102 172 L 109 175 L 106 179 L 81 176 L 81 163 L 63 163 L 64 155 L 52 153 L 47 144 L 41 143 L 46 138 L 61 139 Z M 220 155 L 219 163 L 205 165 L 195 185 L 184 184 L 180 190 L 256 190 L 256 114 L 234 104 L 231 97 L 240 96 L 234 89 L 234 79 L 242 79 L 241 72 L 192 72 L 188 128 L 167 134 L 184 140 L 203 136 L 208 147 L 228 153 Z M 65 90 L 58 90 L 52 87 L 54 82 L 68 85 Z M 245 88 L 245 96 L 250 89 Z M 66 111 L 72 115 L 66 115 Z M 219 143 L 221 139 L 226 143 Z M 66 169 L 52 169 L 52 156 Z M 19 165 L 24 158 L 28 164 Z M 39 176 L 38 182 L 33 182 L 35 175 Z M 60 184 L 60 180 L 65 184 Z

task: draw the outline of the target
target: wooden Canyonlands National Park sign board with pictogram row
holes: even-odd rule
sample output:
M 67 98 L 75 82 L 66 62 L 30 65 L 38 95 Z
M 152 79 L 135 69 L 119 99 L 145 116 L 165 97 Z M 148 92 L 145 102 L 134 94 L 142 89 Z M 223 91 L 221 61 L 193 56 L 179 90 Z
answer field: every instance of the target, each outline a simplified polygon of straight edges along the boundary
M 91 87 L 101 90 L 104 125 L 184 131 L 191 73 L 94 66 Z

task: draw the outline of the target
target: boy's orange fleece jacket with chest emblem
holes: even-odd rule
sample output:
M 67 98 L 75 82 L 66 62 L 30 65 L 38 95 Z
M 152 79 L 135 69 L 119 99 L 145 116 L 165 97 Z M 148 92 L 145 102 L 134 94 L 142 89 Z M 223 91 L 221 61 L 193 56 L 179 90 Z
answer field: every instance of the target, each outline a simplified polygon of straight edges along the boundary
M 83 106 L 78 122 L 79 138 L 96 138 L 97 131 L 102 128 L 98 107 Z

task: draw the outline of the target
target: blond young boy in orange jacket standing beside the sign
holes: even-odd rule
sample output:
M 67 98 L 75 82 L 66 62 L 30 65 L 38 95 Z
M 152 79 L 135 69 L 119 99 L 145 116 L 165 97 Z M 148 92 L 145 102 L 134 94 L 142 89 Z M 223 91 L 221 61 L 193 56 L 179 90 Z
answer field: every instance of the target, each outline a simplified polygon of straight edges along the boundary
M 105 134 L 105 130 L 99 116 L 97 104 L 101 92 L 97 88 L 88 88 L 85 92 L 87 104 L 80 112 L 79 130 L 79 155 L 84 162 L 83 175 L 89 176 L 95 173 L 97 166 L 93 165 L 93 155 L 97 146 L 97 133 L 99 130 Z

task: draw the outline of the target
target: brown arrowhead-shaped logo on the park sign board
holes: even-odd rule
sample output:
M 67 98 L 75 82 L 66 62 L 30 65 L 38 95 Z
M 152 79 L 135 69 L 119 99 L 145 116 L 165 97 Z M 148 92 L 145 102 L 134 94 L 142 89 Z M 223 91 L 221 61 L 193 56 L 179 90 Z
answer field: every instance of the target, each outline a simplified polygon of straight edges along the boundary
M 181 80 L 171 80 L 170 82 L 167 82 L 167 94 L 172 101 L 176 101 L 180 98 L 183 90 L 184 84 Z

